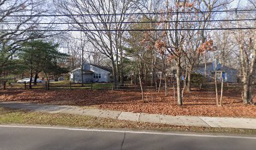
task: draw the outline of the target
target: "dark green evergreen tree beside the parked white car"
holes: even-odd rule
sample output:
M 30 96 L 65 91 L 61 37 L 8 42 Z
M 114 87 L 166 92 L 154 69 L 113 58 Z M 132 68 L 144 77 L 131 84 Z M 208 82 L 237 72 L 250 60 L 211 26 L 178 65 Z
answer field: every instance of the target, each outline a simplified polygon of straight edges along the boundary
M 61 71 L 63 71 L 63 73 L 67 72 L 67 68 L 58 66 L 58 59 L 67 57 L 67 54 L 60 53 L 57 48 L 58 44 L 52 44 L 51 42 L 44 42 L 41 40 L 28 41 L 23 44 L 23 48 L 18 56 L 23 60 L 24 64 L 29 66 L 29 88 L 31 88 L 34 73 L 36 75 L 43 71 L 48 80 L 48 74 L 50 73 L 61 74 Z M 37 75 L 35 76 L 35 81 L 36 78 Z

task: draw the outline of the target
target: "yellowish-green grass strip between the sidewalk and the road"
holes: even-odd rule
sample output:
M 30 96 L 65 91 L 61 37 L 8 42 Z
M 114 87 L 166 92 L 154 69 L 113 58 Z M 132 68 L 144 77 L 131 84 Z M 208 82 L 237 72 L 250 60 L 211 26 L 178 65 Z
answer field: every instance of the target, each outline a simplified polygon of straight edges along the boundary
M 0 108 L 0 124 L 31 124 L 47 126 L 69 126 L 73 128 L 132 129 L 153 131 L 189 131 L 196 133 L 251 134 L 253 129 L 206 128 L 196 126 L 174 126 L 168 124 L 120 121 L 73 114 L 51 114 Z

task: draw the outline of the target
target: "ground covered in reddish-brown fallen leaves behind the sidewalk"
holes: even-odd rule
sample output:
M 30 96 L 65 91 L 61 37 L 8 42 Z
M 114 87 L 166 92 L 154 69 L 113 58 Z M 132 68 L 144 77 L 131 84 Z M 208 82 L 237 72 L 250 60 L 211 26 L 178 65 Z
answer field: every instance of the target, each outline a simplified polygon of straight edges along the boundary
M 0 101 L 31 101 L 46 104 L 93 106 L 100 109 L 130 111 L 134 113 L 169 114 L 173 116 L 221 116 L 256 118 L 256 106 L 244 106 L 240 91 L 224 91 L 223 106 L 216 106 L 213 91 L 193 91 L 184 95 L 184 106 L 177 106 L 172 92 L 146 92 L 143 103 L 141 93 L 135 91 L 90 90 L 27 90 L 0 91 Z M 254 99 L 255 101 L 255 99 Z

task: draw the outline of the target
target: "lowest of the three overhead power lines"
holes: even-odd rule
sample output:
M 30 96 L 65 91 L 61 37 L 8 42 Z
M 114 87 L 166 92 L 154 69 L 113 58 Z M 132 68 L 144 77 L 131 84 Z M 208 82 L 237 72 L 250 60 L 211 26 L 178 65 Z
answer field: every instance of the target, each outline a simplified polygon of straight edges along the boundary
M 211 31 L 211 30 L 247 30 L 256 27 L 228 27 L 228 28 L 208 28 L 208 29 L 0 29 L 0 31 L 28 31 L 28 32 L 61 32 L 61 31 Z

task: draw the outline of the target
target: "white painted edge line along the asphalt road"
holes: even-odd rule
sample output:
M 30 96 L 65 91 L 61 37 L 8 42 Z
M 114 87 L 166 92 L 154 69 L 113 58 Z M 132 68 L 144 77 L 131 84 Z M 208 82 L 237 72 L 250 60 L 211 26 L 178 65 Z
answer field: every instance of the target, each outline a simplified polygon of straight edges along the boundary
M 15 126 L 15 125 L 0 125 L 0 128 L 33 128 L 33 129 L 65 129 L 69 131 L 95 131 L 104 133 L 132 133 L 132 134 L 156 134 L 167 136 L 195 136 L 206 138 L 234 138 L 234 139 L 256 139 L 250 136 L 217 136 L 206 134 L 181 134 L 181 133 L 159 133 L 159 132 L 146 132 L 146 131 L 122 131 L 122 130 L 106 130 L 106 129 L 80 129 L 80 128 L 66 128 L 66 127 L 48 127 L 48 126 Z

